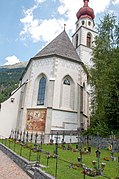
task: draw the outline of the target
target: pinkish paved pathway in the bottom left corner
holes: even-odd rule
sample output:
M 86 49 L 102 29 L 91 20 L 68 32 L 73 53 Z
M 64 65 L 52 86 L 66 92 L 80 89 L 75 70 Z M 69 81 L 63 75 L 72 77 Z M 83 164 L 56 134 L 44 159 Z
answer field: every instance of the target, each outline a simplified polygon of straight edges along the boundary
M 0 179 L 31 179 L 15 162 L 0 151 Z

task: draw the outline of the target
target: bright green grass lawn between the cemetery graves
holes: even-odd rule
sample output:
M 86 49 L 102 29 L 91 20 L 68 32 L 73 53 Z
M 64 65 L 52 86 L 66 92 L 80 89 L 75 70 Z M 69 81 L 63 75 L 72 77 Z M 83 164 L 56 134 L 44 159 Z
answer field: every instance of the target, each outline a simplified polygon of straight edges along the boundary
M 30 159 L 31 161 L 36 161 L 39 160 L 41 164 L 47 166 L 47 161 L 48 161 L 48 167 L 43 168 L 46 172 L 50 173 L 51 175 L 55 176 L 56 172 L 56 158 L 49 158 L 47 160 L 47 154 L 46 152 L 50 152 L 50 154 L 53 155 L 56 146 L 55 145 L 42 145 L 42 152 L 33 152 L 29 148 L 25 148 L 19 145 L 19 144 L 14 144 L 13 142 L 9 142 L 8 140 L 2 141 L 3 144 L 6 144 L 6 146 L 10 147 L 12 150 L 14 150 L 17 154 L 21 154 L 22 157 L 26 159 Z M 31 145 L 31 144 L 28 144 Z M 32 144 L 33 146 L 33 144 Z M 67 144 L 65 144 L 67 148 Z M 40 147 L 40 145 L 39 145 Z M 87 147 L 87 146 L 83 146 Z M 75 144 L 72 144 L 72 148 L 76 148 Z M 22 149 L 22 150 L 21 150 Z M 92 161 L 96 160 L 96 148 L 91 147 L 91 153 L 90 154 L 83 154 L 82 158 L 84 163 L 87 168 L 93 168 Z M 31 152 L 31 155 L 30 155 Z M 100 150 L 101 155 L 100 155 L 100 163 L 106 163 L 106 167 L 104 170 L 104 175 L 106 177 L 110 177 L 111 179 L 116 179 L 117 176 L 119 176 L 119 162 L 112 161 L 110 156 L 111 153 L 110 151 L 106 149 L 101 149 Z M 30 157 L 29 157 L 30 156 Z M 59 145 L 58 148 L 58 170 L 57 170 L 57 179 L 83 179 L 84 175 L 82 174 L 82 168 L 81 167 L 75 167 L 71 168 L 71 163 L 73 164 L 78 164 L 77 158 L 80 156 L 79 152 L 72 152 L 70 150 L 63 150 L 61 148 L 61 145 Z M 119 157 L 119 153 L 114 153 L 115 157 Z M 110 160 L 105 161 L 104 158 L 107 157 Z M 91 179 L 93 177 L 90 176 L 85 176 L 86 179 Z M 105 178 L 104 176 L 98 176 L 96 177 L 97 179 L 102 179 Z

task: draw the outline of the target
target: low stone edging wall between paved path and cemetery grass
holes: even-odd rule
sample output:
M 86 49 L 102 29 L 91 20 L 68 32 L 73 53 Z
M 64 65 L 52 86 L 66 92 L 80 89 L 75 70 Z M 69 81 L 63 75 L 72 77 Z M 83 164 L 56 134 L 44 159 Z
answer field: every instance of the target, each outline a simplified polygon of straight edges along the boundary
M 30 162 L 17 155 L 14 151 L 0 143 L 0 150 L 12 159 L 20 168 L 22 168 L 33 179 L 55 179 L 55 177 L 35 167 L 36 162 Z

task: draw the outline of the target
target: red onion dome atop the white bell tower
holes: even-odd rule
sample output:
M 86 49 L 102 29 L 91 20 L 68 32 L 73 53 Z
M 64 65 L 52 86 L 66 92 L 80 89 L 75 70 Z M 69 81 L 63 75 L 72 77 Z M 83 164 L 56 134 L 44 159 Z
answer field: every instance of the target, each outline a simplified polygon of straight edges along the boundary
M 79 20 L 88 17 L 89 19 L 93 20 L 95 15 L 93 9 L 88 6 L 89 0 L 83 0 L 83 1 L 84 1 L 84 6 L 80 8 L 76 14 L 77 19 Z

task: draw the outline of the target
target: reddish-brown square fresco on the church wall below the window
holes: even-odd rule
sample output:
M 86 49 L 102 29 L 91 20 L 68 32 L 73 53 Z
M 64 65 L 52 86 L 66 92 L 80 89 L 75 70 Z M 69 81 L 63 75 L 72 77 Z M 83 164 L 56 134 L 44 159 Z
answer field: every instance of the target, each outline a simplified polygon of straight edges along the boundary
M 46 110 L 28 109 L 26 130 L 30 132 L 45 132 Z

